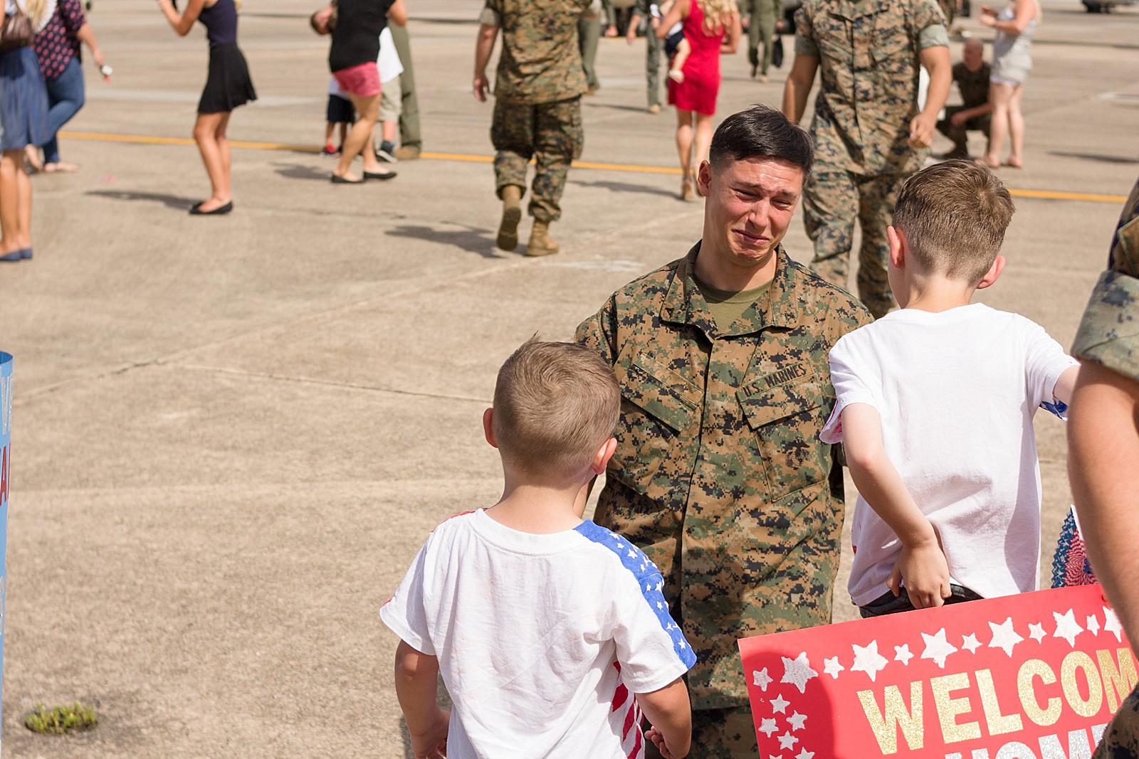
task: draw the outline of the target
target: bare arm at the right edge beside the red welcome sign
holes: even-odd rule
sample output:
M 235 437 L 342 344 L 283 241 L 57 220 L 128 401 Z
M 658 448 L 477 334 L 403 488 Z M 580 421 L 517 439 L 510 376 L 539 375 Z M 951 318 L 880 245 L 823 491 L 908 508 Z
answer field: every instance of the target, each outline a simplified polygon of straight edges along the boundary
M 1068 409 L 1068 479 L 1088 558 L 1139 645 L 1139 382 L 1083 362 Z

